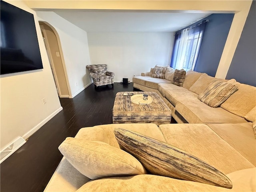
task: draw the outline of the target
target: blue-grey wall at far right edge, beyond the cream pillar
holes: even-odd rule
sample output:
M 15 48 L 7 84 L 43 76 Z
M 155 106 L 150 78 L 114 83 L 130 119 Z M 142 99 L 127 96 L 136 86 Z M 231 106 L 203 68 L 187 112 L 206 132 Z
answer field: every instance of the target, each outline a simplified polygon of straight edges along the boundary
M 226 79 L 256 86 L 256 1 L 244 24 Z

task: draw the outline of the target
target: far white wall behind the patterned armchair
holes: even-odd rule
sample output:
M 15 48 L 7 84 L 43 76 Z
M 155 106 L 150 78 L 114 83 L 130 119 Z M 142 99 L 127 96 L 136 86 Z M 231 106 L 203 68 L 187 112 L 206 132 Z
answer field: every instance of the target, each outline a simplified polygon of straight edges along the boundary
M 87 37 L 91 64 L 108 64 L 115 82 L 169 65 L 174 41 L 171 32 L 88 32 Z

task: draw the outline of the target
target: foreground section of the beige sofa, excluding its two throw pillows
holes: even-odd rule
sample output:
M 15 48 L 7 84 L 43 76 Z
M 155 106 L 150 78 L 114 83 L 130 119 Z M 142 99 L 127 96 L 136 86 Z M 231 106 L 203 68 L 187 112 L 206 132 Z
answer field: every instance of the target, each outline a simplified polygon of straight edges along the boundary
M 248 123 L 252 126 L 252 123 Z M 220 126 L 219 126 L 220 125 Z M 90 180 L 63 158 L 45 192 L 241 192 L 256 190 L 256 139 L 252 127 L 224 124 L 108 124 L 82 128 L 75 138 L 102 141 L 119 148 L 114 128 L 140 132 L 204 160 L 233 184 L 226 189 L 152 174 Z M 230 135 L 230 130 L 232 133 Z M 100 164 L 95 160 L 95 163 Z

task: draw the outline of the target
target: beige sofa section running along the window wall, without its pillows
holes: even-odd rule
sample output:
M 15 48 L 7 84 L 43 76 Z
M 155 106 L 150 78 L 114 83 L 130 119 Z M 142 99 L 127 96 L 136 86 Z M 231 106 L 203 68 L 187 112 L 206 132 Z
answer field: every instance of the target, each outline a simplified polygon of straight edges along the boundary
M 166 70 L 166 73 L 169 75 L 160 79 L 152 78 L 148 76 L 149 72 L 145 72 L 142 76 L 134 77 L 132 81 L 134 88 L 158 93 L 172 110 L 172 117 L 178 123 L 245 123 L 255 119 L 256 87 L 241 84 L 234 79 L 229 80 L 238 86 L 238 91 L 220 107 L 212 108 L 198 100 L 198 95 L 217 78 L 190 70 L 186 73 L 183 86 L 179 87 L 172 84 L 174 70 Z

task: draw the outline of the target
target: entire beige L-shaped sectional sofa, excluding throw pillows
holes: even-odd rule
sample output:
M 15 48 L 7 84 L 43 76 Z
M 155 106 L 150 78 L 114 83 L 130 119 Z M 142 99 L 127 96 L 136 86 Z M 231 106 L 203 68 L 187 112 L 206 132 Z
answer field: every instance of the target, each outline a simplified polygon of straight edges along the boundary
M 75 138 L 101 141 L 119 148 L 114 128 L 136 131 L 200 158 L 224 173 L 232 181 L 233 188 L 152 174 L 90 180 L 64 157 L 45 192 L 255 192 L 256 139 L 252 121 L 256 119 L 256 88 L 232 80 L 238 91 L 220 107 L 212 108 L 197 97 L 216 78 L 189 71 L 183 87 L 179 87 L 171 83 L 172 72 L 166 71 L 166 79 L 152 78 L 148 76 L 149 72 L 142 73 L 133 78 L 134 87 L 158 93 L 178 124 L 99 125 L 80 129 Z M 100 165 L 99 160 L 95 163 Z

